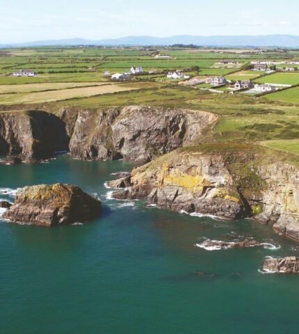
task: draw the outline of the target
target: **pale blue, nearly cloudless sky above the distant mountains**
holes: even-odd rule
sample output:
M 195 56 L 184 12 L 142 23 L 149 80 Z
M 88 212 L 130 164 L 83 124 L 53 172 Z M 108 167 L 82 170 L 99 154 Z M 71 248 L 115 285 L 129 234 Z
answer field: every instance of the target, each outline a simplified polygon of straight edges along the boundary
M 0 0 L 0 44 L 128 35 L 299 35 L 299 1 Z

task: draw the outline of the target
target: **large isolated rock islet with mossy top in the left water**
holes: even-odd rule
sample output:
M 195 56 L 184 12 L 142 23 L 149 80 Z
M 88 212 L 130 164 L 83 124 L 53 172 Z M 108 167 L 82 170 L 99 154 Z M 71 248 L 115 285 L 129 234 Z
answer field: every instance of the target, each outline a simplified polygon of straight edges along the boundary
M 26 186 L 3 218 L 17 223 L 58 226 L 97 218 L 101 202 L 70 184 Z

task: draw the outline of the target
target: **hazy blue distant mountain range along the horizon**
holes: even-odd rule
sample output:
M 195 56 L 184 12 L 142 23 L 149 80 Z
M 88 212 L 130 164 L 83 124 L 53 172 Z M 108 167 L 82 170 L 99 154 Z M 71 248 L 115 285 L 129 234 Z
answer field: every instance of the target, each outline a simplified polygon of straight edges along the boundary
M 240 35 L 240 36 L 193 36 L 176 35 L 158 38 L 151 36 L 128 36 L 107 40 L 40 40 L 35 42 L 0 44 L 0 47 L 42 47 L 54 45 L 103 45 L 103 46 L 169 46 L 175 44 L 198 45 L 209 47 L 299 47 L 299 36 L 296 35 Z

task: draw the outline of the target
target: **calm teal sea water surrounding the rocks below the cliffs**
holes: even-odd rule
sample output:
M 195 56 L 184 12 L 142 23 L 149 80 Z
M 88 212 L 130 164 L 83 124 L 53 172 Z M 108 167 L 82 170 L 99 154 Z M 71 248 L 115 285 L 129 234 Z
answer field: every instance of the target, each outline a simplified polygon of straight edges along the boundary
M 299 255 L 299 244 L 248 220 L 215 221 L 108 200 L 104 182 L 131 168 L 67 155 L 50 164 L 0 166 L 0 188 L 72 183 L 104 204 L 102 217 L 86 225 L 0 221 L 0 333 L 298 333 L 299 275 L 257 270 L 267 255 Z M 232 233 L 282 248 L 209 252 L 194 246 L 201 237 Z

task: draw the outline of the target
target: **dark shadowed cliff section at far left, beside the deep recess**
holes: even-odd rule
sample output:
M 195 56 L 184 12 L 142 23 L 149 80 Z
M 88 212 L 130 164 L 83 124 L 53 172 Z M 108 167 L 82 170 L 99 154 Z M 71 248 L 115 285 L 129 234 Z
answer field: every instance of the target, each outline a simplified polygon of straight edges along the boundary
M 44 111 L 0 113 L 0 155 L 34 162 L 67 150 L 65 125 Z

